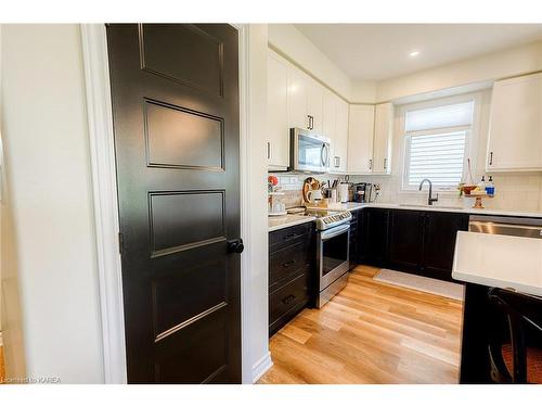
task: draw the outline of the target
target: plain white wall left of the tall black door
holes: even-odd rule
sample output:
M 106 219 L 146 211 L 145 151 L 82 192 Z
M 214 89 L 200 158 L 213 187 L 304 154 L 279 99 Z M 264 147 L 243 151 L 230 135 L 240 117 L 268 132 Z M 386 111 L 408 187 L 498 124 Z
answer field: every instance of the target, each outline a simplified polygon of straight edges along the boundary
M 5 25 L 1 52 L 10 238 L 16 250 L 26 376 L 101 383 L 79 26 Z

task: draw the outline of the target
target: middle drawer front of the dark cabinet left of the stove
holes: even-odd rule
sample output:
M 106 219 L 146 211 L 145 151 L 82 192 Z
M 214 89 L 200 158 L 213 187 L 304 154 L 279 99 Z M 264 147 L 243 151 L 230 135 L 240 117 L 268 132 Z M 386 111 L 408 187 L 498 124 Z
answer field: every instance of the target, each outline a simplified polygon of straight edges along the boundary
M 269 255 L 269 292 L 273 292 L 284 279 L 310 270 L 310 244 L 300 242 Z

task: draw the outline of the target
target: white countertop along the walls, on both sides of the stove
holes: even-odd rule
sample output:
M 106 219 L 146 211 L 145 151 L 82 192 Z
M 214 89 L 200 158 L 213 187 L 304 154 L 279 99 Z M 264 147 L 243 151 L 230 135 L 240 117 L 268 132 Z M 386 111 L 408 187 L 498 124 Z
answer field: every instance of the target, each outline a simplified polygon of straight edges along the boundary
M 345 204 L 336 204 L 330 207 L 331 211 L 359 211 L 364 207 L 382 207 L 389 209 L 405 209 L 405 211 L 429 211 L 429 212 L 452 212 L 467 215 L 498 215 L 498 216 L 524 216 L 542 218 L 541 212 L 517 212 L 517 211 L 501 211 L 501 209 L 473 209 L 473 208 L 462 208 L 462 207 L 449 207 L 449 206 L 417 206 L 417 205 L 401 205 L 392 203 L 358 203 L 358 202 L 347 202 Z M 312 221 L 314 217 L 312 216 L 301 216 L 301 215 L 286 215 L 286 216 L 270 216 L 269 217 L 269 231 L 279 230 L 282 228 L 287 228 L 289 226 L 305 224 L 306 221 Z

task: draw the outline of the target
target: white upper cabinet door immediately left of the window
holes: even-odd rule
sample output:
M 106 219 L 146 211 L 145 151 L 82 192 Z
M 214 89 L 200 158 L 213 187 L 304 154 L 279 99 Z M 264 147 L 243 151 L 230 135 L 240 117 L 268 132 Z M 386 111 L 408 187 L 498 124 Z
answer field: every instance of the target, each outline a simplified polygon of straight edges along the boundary
M 391 143 L 393 140 L 393 104 L 375 106 L 373 174 L 391 174 Z

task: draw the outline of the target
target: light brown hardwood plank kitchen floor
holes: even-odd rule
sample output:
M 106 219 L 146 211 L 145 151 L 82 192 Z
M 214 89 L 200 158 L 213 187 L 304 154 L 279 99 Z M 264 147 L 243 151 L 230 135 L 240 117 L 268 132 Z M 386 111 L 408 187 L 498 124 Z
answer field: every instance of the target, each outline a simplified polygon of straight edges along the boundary
M 258 383 L 457 383 L 463 303 L 374 281 L 358 266 L 322 309 L 271 340 Z

